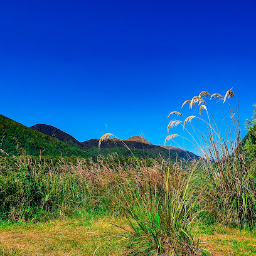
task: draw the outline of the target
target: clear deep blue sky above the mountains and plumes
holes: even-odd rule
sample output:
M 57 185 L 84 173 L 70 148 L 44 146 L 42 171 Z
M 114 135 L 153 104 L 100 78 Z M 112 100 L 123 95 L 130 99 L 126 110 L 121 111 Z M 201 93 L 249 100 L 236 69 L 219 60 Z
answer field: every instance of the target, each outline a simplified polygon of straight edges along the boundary
M 79 141 L 168 135 L 202 90 L 256 102 L 255 1 L 1 1 L 1 114 Z M 236 90 L 236 89 L 235 89 Z M 243 131 L 243 135 L 245 132 Z

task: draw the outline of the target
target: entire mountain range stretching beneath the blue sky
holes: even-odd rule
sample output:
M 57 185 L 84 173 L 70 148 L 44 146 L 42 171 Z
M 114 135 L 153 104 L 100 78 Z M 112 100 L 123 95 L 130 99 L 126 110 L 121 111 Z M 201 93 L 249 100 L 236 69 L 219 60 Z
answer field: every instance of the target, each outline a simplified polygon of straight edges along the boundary
M 99 139 L 79 142 L 66 132 L 51 125 L 36 124 L 26 127 L 14 120 L 0 115 L 0 156 L 18 155 L 21 148 L 31 156 L 80 156 L 97 159 L 99 155 L 107 156 L 113 152 L 124 157 L 170 158 L 171 162 L 198 158 L 195 154 L 176 147 L 153 145 L 141 136 L 119 139 L 105 139 L 99 149 Z

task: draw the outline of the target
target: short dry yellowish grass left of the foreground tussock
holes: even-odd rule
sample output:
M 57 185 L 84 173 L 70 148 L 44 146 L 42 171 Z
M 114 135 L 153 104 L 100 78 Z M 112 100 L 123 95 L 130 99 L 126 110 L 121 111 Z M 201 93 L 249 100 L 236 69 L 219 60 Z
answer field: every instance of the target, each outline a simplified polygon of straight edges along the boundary
M 124 230 L 112 221 L 56 220 L 1 228 L 0 255 L 121 255 Z M 114 221 L 126 225 L 124 220 Z

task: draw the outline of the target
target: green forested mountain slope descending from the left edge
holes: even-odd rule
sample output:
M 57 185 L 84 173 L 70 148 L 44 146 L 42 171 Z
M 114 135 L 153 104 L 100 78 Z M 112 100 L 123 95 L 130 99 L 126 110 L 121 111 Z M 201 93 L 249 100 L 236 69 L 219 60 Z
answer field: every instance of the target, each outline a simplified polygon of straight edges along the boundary
M 40 150 L 49 156 L 82 156 L 90 157 L 86 150 L 71 147 L 54 137 L 30 129 L 23 124 L 0 115 L 1 149 L 9 155 L 18 154 L 24 148 L 31 156 L 38 156 Z M 3 154 L 1 154 L 3 155 Z

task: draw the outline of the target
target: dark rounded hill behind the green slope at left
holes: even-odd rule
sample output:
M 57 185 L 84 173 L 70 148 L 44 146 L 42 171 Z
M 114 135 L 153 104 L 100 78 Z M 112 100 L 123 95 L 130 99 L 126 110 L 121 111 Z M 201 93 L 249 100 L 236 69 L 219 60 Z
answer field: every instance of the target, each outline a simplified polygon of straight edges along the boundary
M 77 141 L 77 139 L 72 137 L 70 134 L 67 134 L 67 132 L 63 132 L 54 126 L 48 124 L 35 124 L 30 128 L 38 132 L 42 132 L 43 134 L 46 134 L 48 136 L 55 137 L 56 139 L 59 139 L 60 141 L 69 144 L 70 146 L 82 147 L 82 143 Z

